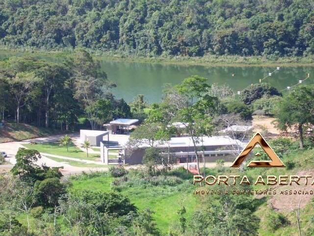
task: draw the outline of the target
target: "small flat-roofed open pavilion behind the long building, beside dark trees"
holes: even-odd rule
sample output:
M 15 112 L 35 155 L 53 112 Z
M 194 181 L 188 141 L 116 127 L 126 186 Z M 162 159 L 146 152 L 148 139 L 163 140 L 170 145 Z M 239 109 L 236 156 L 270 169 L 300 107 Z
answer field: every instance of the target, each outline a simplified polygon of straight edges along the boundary
M 130 130 L 135 128 L 137 123 L 138 119 L 119 118 L 104 124 L 104 126 L 110 134 L 128 134 Z

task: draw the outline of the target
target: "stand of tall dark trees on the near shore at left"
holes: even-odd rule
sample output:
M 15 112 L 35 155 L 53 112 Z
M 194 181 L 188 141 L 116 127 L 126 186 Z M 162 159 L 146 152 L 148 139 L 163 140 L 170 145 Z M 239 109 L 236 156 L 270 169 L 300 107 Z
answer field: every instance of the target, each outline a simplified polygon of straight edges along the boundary
M 112 87 L 84 50 L 59 62 L 11 57 L 0 61 L 0 118 L 61 130 L 75 129 L 80 117 L 92 129 L 113 118 L 131 118 L 136 109 L 115 99 Z

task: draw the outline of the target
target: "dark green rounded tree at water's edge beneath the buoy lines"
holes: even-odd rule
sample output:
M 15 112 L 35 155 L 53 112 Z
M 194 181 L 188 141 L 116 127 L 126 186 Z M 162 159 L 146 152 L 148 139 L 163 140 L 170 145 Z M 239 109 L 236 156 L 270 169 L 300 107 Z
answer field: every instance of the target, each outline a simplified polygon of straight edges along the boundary
M 260 99 L 262 96 L 282 96 L 278 89 L 271 87 L 269 84 L 261 83 L 253 86 L 248 86 L 240 94 L 240 101 L 246 105 L 253 103 L 255 100 Z

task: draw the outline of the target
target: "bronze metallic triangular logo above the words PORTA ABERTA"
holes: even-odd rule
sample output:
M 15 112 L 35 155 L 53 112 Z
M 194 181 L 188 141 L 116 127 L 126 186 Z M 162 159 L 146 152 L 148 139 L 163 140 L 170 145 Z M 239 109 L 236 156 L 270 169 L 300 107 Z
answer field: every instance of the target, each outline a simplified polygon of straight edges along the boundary
M 247 146 L 232 163 L 231 167 L 239 167 L 257 144 L 262 147 L 271 161 L 251 161 L 247 167 L 286 167 L 260 133 L 256 133 L 253 136 Z M 260 153 L 256 154 L 256 156 L 260 155 Z

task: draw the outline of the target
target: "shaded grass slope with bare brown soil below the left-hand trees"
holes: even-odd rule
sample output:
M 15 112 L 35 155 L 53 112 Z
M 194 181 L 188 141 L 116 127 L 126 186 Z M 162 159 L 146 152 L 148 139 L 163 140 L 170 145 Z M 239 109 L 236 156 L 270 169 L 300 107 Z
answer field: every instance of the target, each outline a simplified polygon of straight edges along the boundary
M 36 127 L 30 124 L 6 123 L 0 127 L 0 143 L 34 139 L 61 133 L 60 130 Z

